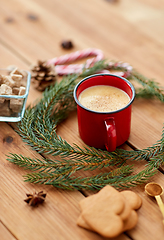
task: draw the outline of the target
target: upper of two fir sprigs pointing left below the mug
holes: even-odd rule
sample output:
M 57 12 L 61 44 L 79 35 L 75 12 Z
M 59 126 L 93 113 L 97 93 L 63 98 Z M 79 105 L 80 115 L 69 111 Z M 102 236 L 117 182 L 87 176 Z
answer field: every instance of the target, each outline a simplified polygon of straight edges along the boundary
M 30 169 L 33 171 L 48 171 L 53 172 L 55 174 L 65 174 L 65 173 L 73 173 L 79 170 L 94 170 L 101 169 L 109 166 L 123 166 L 125 160 L 122 157 L 112 157 L 112 153 L 107 151 L 97 150 L 92 148 L 92 151 L 89 148 L 85 148 L 82 150 L 82 153 L 79 152 L 79 157 L 72 156 L 69 159 L 59 160 L 50 160 L 50 159 L 32 159 L 28 157 L 24 157 L 22 155 L 10 154 L 7 157 L 7 160 L 17 164 L 20 167 L 24 167 L 25 169 Z M 87 157 L 86 157 L 86 154 Z M 83 156 L 84 155 L 84 156 Z

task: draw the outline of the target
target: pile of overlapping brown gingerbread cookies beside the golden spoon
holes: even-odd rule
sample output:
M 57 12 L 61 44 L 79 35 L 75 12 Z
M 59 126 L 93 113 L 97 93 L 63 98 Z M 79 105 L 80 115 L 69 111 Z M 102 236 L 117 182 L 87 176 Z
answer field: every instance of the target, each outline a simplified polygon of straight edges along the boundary
M 77 225 L 113 238 L 135 227 L 138 221 L 135 210 L 141 204 L 141 198 L 136 193 L 129 190 L 118 192 L 107 185 L 80 202 L 81 215 Z

